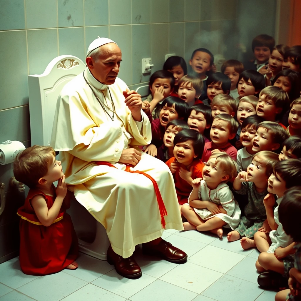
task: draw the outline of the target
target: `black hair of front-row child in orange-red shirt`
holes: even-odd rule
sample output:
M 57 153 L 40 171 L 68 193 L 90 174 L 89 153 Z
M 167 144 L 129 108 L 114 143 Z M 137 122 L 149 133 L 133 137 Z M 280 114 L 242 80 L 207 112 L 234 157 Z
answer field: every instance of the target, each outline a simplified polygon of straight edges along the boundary
M 196 130 L 183 129 L 181 132 L 178 132 L 173 139 L 173 145 L 175 146 L 178 143 L 186 142 L 188 140 L 192 140 L 194 154 L 196 154 L 197 158 L 200 159 L 203 155 L 205 141 L 203 135 Z

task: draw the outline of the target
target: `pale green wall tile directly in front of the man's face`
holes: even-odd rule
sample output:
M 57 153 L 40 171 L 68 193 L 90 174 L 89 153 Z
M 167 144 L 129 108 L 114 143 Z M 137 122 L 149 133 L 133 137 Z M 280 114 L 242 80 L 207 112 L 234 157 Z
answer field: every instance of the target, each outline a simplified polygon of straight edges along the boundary
M 127 85 L 132 85 L 132 26 L 111 26 L 110 39 L 118 44 L 122 52 L 118 77 Z

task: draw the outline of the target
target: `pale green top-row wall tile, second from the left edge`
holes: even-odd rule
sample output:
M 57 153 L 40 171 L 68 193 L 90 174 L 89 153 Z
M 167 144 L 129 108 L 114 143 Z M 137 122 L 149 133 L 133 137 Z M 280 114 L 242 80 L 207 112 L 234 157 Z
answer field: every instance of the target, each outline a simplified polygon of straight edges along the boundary
M 25 0 L 26 28 L 57 27 L 56 0 Z

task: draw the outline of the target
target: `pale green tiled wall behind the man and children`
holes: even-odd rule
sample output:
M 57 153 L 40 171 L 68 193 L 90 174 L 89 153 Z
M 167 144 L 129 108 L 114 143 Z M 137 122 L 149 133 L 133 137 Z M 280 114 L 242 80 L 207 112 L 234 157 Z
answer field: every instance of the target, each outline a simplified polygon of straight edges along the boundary
M 235 55 L 237 0 L 1 0 L 0 4 L 0 143 L 10 139 L 30 145 L 27 75 L 42 73 L 58 55 L 84 60 L 97 36 L 117 42 L 123 54 L 119 76 L 135 89 L 150 77 L 141 74 L 144 57 L 152 57 L 158 70 L 165 54 L 188 60 L 200 46 L 226 58 Z M 10 195 L 12 175 L 12 165 L 0 165 L 7 198 L 0 216 L 0 262 L 17 249 L 15 213 L 24 199 L 24 194 Z

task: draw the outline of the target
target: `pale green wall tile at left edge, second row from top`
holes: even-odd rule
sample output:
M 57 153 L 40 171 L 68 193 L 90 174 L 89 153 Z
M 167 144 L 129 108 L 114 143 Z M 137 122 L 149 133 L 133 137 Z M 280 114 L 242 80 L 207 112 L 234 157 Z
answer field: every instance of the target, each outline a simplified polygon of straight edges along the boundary
M 3 110 L 28 104 L 26 33 L 3 31 L 0 41 L 0 110 Z

